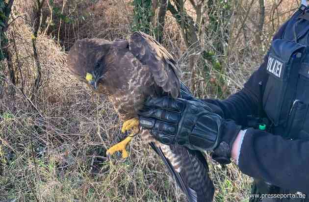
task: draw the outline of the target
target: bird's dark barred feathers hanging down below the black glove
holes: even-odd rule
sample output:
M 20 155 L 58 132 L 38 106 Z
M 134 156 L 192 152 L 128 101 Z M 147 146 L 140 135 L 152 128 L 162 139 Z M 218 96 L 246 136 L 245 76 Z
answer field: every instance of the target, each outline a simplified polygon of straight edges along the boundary
M 168 155 L 160 145 L 153 142 L 149 144 L 161 157 L 177 185 L 186 195 L 188 202 L 213 201 L 214 186 L 208 176 L 207 162 L 200 151 L 191 151 L 182 146 L 172 147 L 174 154 L 180 157 L 181 170 L 179 171 L 172 165 Z

